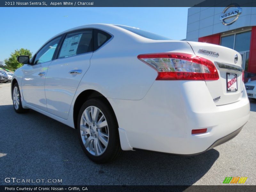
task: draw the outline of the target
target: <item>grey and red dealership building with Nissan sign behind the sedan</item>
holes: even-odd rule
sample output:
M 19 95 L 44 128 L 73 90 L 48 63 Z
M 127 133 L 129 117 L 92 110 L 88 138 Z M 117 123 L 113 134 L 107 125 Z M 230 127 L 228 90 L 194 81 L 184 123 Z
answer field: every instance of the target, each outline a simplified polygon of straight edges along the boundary
M 212 1 L 213 6 L 218 6 L 217 1 Z M 242 55 L 244 70 L 256 73 L 256 7 L 191 7 L 186 40 L 234 49 Z

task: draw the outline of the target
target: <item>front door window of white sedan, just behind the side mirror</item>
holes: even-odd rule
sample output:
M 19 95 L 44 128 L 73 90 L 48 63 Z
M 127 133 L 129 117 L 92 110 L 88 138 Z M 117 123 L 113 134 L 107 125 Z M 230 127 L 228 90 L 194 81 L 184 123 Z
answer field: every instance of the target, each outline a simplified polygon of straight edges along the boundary
M 53 39 L 36 54 L 35 62 L 34 64 L 44 63 L 47 61 L 52 60 L 53 54 L 60 43 L 61 37 L 57 37 L 56 39 Z

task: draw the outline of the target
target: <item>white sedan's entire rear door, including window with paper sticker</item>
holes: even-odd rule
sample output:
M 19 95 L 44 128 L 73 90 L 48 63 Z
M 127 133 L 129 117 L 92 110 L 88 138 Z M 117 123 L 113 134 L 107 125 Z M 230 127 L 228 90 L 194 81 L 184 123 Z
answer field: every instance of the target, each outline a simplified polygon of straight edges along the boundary
M 47 110 L 67 119 L 78 84 L 90 67 L 92 30 L 67 34 L 45 80 Z

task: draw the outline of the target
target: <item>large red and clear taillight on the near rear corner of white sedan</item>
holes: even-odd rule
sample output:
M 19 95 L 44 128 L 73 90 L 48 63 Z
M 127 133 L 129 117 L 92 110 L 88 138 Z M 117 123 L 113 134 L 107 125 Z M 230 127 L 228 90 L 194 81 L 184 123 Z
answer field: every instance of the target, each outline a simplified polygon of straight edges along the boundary
M 138 55 L 158 72 L 156 80 L 218 80 L 212 61 L 186 53 L 156 53 Z

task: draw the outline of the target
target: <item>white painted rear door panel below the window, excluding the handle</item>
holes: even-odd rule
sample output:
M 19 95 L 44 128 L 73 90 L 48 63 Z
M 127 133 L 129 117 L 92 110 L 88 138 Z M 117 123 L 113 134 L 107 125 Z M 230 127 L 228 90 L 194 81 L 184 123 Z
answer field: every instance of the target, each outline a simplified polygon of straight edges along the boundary
M 76 89 L 90 66 L 91 57 L 92 53 L 88 53 L 52 61 L 45 80 L 49 113 L 64 119 L 68 118 Z M 81 70 L 81 73 L 72 74 L 73 70 Z

